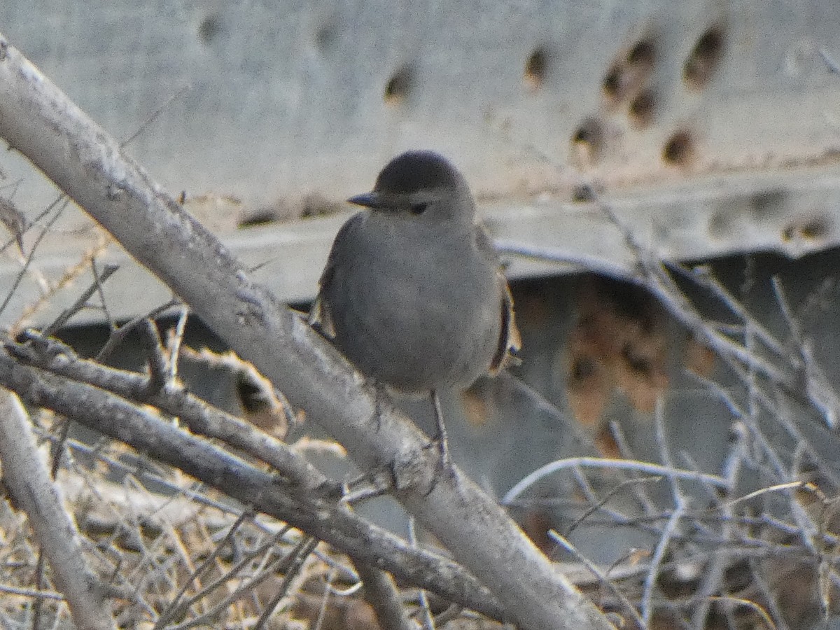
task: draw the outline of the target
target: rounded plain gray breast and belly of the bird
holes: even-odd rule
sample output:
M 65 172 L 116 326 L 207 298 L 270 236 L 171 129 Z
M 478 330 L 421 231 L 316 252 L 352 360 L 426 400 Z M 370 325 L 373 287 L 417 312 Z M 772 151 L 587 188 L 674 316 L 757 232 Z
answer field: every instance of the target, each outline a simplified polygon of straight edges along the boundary
M 407 391 L 467 385 L 501 327 L 496 268 L 470 234 L 362 234 L 334 290 L 336 342 L 362 372 Z

